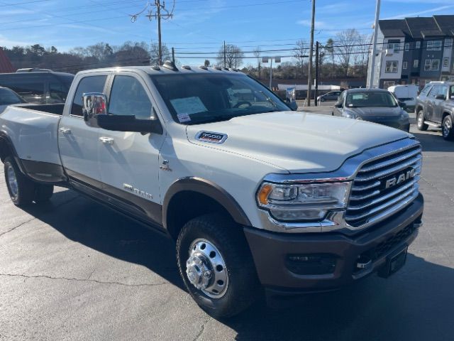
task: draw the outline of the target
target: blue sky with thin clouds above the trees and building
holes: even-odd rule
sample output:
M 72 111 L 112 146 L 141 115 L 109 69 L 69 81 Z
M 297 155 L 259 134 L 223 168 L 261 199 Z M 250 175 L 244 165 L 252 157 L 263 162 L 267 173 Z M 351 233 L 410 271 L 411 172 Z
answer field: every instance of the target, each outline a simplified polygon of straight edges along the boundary
M 165 2 L 172 7 L 172 0 Z M 175 47 L 177 54 L 214 52 L 223 40 L 245 51 L 258 45 L 262 50 L 292 48 L 298 39 L 309 41 L 309 0 L 175 2 L 174 18 L 162 22 L 162 41 Z M 111 45 L 126 40 L 156 42 L 156 21 L 140 16 L 132 23 L 128 16 L 146 4 L 147 0 L 0 0 L 0 46 L 40 43 L 70 50 L 100 41 Z M 382 0 L 380 18 L 453 13 L 453 0 Z M 375 0 L 316 0 L 315 40 L 324 43 L 346 28 L 370 34 L 374 16 Z

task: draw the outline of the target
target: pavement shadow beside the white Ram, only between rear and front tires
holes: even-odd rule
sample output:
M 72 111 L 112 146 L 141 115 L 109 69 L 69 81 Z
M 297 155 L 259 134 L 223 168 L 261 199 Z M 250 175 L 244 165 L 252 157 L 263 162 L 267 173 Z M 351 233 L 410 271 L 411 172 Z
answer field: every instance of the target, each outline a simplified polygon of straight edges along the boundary
M 109 256 L 146 266 L 179 288 L 175 243 L 72 190 L 55 193 L 49 203 L 26 211 L 74 242 Z

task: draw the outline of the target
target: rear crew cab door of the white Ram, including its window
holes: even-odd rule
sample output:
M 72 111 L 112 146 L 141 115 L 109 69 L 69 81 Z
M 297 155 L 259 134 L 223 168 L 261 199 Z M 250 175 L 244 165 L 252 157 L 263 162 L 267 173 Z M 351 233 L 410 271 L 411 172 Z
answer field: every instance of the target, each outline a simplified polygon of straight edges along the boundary
M 109 72 L 87 75 L 74 79 L 79 82 L 67 103 L 65 113 L 58 129 L 60 157 L 65 171 L 71 178 L 83 183 L 96 185 L 101 180 L 98 168 L 99 128 L 87 126 L 82 115 L 82 94 L 87 92 L 104 92 Z M 70 99 L 70 98 L 68 98 Z

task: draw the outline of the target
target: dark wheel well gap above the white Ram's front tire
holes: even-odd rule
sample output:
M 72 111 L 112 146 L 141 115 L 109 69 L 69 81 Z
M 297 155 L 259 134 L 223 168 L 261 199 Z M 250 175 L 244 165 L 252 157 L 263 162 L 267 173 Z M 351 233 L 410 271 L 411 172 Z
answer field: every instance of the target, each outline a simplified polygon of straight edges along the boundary
M 213 212 L 231 217 L 226 208 L 208 195 L 191 190 L 179 192 L 172 197 L 167 206 L 167 231 L 176 240 L 179 231 L 189 220 Z

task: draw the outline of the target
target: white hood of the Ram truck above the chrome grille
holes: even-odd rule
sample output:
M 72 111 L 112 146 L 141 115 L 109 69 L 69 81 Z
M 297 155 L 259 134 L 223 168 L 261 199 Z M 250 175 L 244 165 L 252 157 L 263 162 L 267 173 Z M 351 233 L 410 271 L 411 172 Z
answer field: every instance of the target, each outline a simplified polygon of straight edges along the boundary
M 226 139 L 220 144 L 200 141 L 201 131 Z M 305 112 L 270 112 L 187 126 L 193 144 L 255 158 L 290 173 L 335 171 L 366 148 L 408 136 L 378 124 Z

